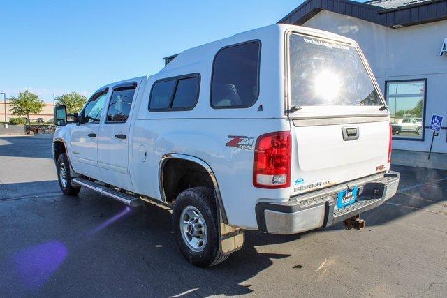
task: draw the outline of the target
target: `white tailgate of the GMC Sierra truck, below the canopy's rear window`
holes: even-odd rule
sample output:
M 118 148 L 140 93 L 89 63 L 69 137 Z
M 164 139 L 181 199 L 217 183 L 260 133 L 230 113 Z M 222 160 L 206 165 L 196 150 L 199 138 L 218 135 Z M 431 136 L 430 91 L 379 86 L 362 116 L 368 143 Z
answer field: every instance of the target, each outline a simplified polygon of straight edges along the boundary
M 344 120 L 313 126 L 291 121 L 291 195 L 388 170 L 388 117 Z

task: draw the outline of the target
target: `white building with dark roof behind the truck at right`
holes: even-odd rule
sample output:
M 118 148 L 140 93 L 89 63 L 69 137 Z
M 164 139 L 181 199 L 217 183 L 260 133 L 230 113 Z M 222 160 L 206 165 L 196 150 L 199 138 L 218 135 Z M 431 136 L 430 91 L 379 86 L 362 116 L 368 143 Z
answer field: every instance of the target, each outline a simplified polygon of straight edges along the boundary
M 395 122 L 393 149 L 429 151 L 438 114 L 432 151 L 447 153 L 447 1 L 307 0 L 279 22 L 356 40 Z

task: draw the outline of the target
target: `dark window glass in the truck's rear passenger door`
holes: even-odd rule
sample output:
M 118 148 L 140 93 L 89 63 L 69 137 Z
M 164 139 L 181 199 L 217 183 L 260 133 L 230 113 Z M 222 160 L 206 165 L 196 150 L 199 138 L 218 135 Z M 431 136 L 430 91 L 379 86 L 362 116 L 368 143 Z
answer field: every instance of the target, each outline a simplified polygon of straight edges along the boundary
M 106 122 L 126 122 L 131 112 L 133 94 L 136 84 L 126 87 L 115 87 L 110 98 Z

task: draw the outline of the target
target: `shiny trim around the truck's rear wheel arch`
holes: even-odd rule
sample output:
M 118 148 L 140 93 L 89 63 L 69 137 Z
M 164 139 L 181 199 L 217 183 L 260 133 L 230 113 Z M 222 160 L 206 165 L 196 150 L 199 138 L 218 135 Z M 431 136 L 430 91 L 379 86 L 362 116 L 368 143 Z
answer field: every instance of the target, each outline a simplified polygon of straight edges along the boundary
M 192 161 L 193 163 L 197 163 L 198 165 L 203 167 L 208 172 L 208 174 L 210 174 L 212 184 L 214 185 L 214 194 L 216 196 L 216 207 L 217 207 L 218 214 L 220 214 L 223 223 L 228 223 L 228 218 L 226 216 L 225 207 L 223 206 L 223 202 L 222 202 L 221 192 L 219 190 L 219 184 L 217 184 L 216 175 L 214 175 L 214 172 L 212 171 L 212 168 L 210 167 L 210 165 L 208 165 L 205 161 L 203 161 L 202 159 L 200 159 L 198 157 L 190 156 L 187 154 L 178 154 L 178 153 L 165 154 L 161 157 L 160 165 L 159 165 L 159 188 L 160 188 L 161 200 L 163 200 L 163 202 L 166 202 L 166 195 L 165 195 L 165 191 L 163 188 L 163 167 L 164 167 L 166 161 L 168 161 L 169 159 L 173 159 L 173 158 L 174 159 L 183 159 L 185 161 Z

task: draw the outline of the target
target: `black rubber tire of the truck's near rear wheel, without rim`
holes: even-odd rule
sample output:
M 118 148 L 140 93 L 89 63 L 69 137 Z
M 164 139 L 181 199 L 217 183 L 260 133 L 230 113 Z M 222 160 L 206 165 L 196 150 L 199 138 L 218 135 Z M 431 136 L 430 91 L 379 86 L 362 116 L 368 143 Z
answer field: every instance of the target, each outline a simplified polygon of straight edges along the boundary
M 219 230 L 217 225 L 217 209 L 214 198 L 214 190 L 209 187 L 194 187 L 182 191 L 177 196 L 173 207 L 173 227 L 177 245 L 189 262 L 198 267 L 210 267 L 223 262 L 228 254 L 219 250 Z M 205 220 L 207 240 L 201 251 L 193 251 L 184 239 L 183 230 L 180 227 L 182 211 L 186 208 L 196 208 Z

